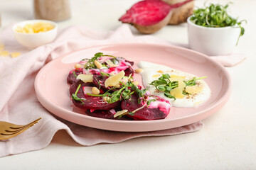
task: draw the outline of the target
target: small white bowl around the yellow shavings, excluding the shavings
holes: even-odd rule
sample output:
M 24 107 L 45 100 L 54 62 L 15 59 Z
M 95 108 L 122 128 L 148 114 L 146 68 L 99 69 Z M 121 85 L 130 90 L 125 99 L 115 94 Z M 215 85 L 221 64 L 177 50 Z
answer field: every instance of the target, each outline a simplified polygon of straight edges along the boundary
M 54 26 L 52 30 L 48 30 L 43 33 L 18 33 L 16 31 L 16 28 L 18 26 L 25 26 L 28 23 L 38 23 L 38 22 L 46 22 L 50 23 Z M 53 21 L 47 21 L 47 20 L 28 20 L 28 21 L 22 21 L 20 23 L 16 23 L 12 30 L 14 32 L 14 37 L 16 40 L 23 46 L 28 47 L 29 49 L 33 49 L 35 47 L 46 45 L 50 42 L 52 42 L 57 35 L 58 26 Z

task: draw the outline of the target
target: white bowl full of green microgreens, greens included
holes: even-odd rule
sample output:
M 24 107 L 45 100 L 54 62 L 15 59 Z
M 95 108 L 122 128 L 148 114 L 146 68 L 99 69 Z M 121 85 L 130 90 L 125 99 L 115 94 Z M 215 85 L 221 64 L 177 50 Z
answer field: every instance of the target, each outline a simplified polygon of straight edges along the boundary
M 228 55 L 238 45 L 245 33 L 242 23 L 228 14 L 227 8 L 220 4 L 209 4 L 194 10 L 188 17 L 188 44 L 192 50 L 209 56 Z

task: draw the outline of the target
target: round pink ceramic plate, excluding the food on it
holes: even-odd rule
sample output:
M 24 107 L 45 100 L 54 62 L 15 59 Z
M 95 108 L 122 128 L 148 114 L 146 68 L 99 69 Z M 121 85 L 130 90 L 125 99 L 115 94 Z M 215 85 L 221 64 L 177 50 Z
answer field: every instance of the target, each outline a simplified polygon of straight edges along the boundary
M 164 64 L 183 72 L 207 76 L 205 81 L 210 86 L 212 96 L 198 108 L 171 108 L 171 113 L 162 120 L 107 120 L 85 115 L 84 111 L 73 106 L 67 84 L 68 72 L 75 62 L 92 57 L 96 52 L 125 57 L 134 61 Z M 137 75 L 136 79 L 141 81 Z M 123 132 L 144 132 L 176 128 L 195 123 L 217 112 L 228 101 L 231 81 L 223 66 L 201 53 L 181 47 L 164 45 L 122 44 L 90 47 L 71 52 L 49 62 L 38 73 L 35 82 L 36 94 L 41 104 L 51 113 L 70 122 L 103 130 Z

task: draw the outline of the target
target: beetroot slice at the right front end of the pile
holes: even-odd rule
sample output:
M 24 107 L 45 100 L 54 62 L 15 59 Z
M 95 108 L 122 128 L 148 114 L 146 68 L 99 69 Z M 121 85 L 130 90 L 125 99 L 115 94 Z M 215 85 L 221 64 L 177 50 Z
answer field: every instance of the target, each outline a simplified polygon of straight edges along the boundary
M 132 98 L 127 101 L 122 101 L 121 107 L 123 110 L 128 110 L 129 112 L 135 111 L 137 108 L 141 108 L 143 105 L 142 103 L 138 103 L 138 96 L 137 94 L 133 94 Z M 164 119 L 168 114 L 161 111 L 159 108 L 148 108 L 144 107 L 139 111 L 136 111 L 134 115 L 129 115 L 130 118 L 134 120 L 157 120 L 157 119 Z

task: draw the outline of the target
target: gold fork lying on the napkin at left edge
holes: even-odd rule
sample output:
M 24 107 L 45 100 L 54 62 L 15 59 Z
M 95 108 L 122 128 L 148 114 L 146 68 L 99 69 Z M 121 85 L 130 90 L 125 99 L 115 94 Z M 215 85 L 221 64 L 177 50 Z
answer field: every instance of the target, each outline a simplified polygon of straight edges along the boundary
M 31 128 L 31 126 L 38 123 L 38 120 L 40 119 L 41 118 L 33 120 L 33 122 L 28 123 L 27 125 L 15 125 L 13 123 L 0 121 L 0 140 L 8 140 L 11 137 L 15 137 L 16 135 L 28 130 L 28 128 Z

